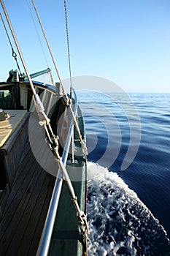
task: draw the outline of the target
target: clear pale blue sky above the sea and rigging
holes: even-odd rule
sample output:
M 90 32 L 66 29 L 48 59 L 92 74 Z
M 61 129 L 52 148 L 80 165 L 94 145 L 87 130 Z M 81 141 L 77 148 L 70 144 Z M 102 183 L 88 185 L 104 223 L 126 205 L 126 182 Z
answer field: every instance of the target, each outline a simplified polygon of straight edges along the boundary
M 46 69 L 27 1 L 12 5 L 4 0 L 4 4 L 28 71 Z M 61 79 L 69 78 L 63 0 L 35 0 L 35 4 Z M 67 12 L 73 77 L 104 78 L 126 92 L 170 92 L 169 0 L 67 0 Z M 58 80 L 37 21 L 36 26 L 53 78 Z M 13 41 L 12 45 L 15 48 Z M 0 80 L 6 80 L 16 65 L 1 22 L 0 56 Z

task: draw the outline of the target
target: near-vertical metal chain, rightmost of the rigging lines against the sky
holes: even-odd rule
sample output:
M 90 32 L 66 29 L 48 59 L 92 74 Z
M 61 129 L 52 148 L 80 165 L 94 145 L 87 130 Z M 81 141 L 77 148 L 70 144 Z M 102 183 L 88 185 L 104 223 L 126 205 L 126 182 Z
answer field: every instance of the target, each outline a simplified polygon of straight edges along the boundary
M 71 61 L 70 61 L 70 50 L 69 50 L 69 26 L 67 18 L 67 7 L 66 0 L 64 0 L 65 20 L 66 20 L 66 41 L 67 41 L 67 53 L 69 61 L 69 79 L 70 79 L 70 98 L 72 99 L 72 72 L 71 72 Z

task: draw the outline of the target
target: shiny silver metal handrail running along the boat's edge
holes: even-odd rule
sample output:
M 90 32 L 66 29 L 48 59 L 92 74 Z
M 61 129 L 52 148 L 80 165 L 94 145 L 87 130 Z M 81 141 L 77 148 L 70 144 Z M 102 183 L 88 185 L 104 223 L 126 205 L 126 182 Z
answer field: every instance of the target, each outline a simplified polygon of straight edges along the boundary
M 75 99 L 75 105 L 74 105 L 74 115 L 77 115 L 77 96 L 75 94 L 74 91 L 74 99 Z M 66 143 L 65 146 L 63 148 L 63 154 L 62 154 L 62 159 L 63 159 L 63 165 L 66 166 L 66 160 L 69 154 L 69 146 L 71 143 L 71 139 L 72 139 L 72 130 L 74 127 L 74 122 L 73 120 L 70 123 L 69 126 L 69 132 L 66 138 Z M 42 232 L 42 237 L 40 239 L 39 242 L 39 248 L 36 252 L 37 256 L 47 256 L 48 251 L 50 249 L 50 241 L 51 241 L 51 237 L 53 234 L 53 227 L 55 224 L 55 217 L 58 211 L 58 202 L 60 199 L 60 195 L 61 195 L 61 188 L 62 188 L 62 184 L 63 184 L 63 178 L 61 175 L 60 170 L 58 170 L 58 176 L 55 180 L 55 185 L 53 188 L 53 194 L 50 200 L 50 206 L 47 212 L 47 217 L 46 217 L 46 221 L 45 221 L 45 226 Z

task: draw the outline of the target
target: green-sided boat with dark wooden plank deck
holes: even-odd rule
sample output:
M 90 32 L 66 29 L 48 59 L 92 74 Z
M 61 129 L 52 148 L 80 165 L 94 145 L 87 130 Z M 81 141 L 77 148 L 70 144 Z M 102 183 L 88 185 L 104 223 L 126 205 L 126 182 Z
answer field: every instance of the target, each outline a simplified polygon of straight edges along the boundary
M 25 111 L 26 113 L 0 147 L 0 160 L 1 166 L 3 166 L 0 171 L 0 251 L 1 255 L 32 256 L 36 255 L 41 244 L 40 238 L 45 229 L 53 187 L 59 170 L 55 156 L 50 151 L 47 140 L 45 137 L 43 138 L 45 131 L 42 132 L 42 138 L 39 139 L 43 127 L 39 127 L 39 117 L 34 113 L 34 102 L 28 83 L 1 83 L 0 90 L 15 88 L 16 85 L 20 89 L 20 102 L 14 105 L 17 108 L 15 111 L 20 113 Z M 62 125 L 59 131 L 63 129 L 65 111 L 68 111 L 64 100 L 62 97 L 56 97 L 53 86 L 45 86 L 42 83 L 34 83 L 34 86 L 45 106 L 45 113 L 51 118 L 52 127 L 57 135 L 57 126 L 60 122 Z M 58 105 L 58 102 L 61 103 Z M 0 103 L 3 106 L 4 102 L 0 101 Z M 5 112 L 10 112 L 11 106 L 12 102 Z M 57 115 L 55 118 L 53 118 L 54 113 Z M 35 120 L 34 115 L 36 116 Z M 69 116 L 68 127 L 66 124 L 66 137 L 69 125 L 72 123 L 71 119 L 72 117 Z M 34 124 L 31 124 L 33 120 L 36 122 L 35 127 Z M 85 125 L 80 108 L 77 110 L 77 122 L 80 125 L 82 140 L 85 141 Z M 85 211 L 86 155 L 82 151 L 76 129 L 73 131 L 74 146 L 69 146 L 66 170 L 72 181 L 80 209 Z M 61 141 L 59 140 L 61 156 L 65 154 L 63 142 L 66 141 L 66 138 L 64 136 Z M 74 148 L 74 161 L 72 161 L 71 148 Z M 36 149 L 38 150 L 36 151 Z M 86 238 L 80 231 L 74 203 L 71 200 L 66 181 L 63 180 L 48 255 L 85 255 Z

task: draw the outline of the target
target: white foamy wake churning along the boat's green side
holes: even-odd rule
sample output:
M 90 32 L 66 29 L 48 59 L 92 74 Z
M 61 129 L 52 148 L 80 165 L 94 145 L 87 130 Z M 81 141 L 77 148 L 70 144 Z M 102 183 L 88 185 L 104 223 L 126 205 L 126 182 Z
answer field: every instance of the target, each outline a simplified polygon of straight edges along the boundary
M 88 162 L 88 255 L 169 255 L 166 231 L 117 173 Z

